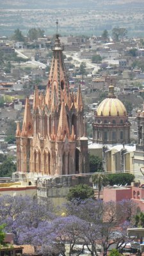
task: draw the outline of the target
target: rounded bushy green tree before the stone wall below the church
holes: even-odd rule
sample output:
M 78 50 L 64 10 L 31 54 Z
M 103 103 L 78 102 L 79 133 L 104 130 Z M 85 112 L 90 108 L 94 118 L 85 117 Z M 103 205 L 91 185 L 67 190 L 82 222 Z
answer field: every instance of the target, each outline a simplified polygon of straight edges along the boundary
M 73 199 L 76 198 L 79 198 L 80 200 L 94 198 L 93 188 L 86 184 L 79 184 L 74 187 L 71 187 L 67 195 L 67 200 L 72 201 Z

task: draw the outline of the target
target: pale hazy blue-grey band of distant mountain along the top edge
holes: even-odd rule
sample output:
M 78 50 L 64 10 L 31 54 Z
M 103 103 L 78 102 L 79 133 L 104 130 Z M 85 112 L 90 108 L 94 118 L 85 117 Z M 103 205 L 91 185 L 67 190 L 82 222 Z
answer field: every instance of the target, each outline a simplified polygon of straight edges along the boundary
M 140 7 L 143 0 L 4 0 L 0 9 L 51 9 L 51 8 L 116 8 L 116 6 Z

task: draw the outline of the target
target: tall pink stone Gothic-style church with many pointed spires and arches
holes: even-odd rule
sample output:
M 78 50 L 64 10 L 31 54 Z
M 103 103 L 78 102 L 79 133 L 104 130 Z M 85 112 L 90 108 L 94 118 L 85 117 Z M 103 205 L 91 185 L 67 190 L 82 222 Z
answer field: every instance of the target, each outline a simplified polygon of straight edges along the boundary
M 63 47 L 56 35 L 45 95 L 35 88 L 33 111 L 26 99 L 22 130 L 17 123 L 17 172 L 42 175 L 88 173 L 88 139 L 79 86 L 71 93 Z

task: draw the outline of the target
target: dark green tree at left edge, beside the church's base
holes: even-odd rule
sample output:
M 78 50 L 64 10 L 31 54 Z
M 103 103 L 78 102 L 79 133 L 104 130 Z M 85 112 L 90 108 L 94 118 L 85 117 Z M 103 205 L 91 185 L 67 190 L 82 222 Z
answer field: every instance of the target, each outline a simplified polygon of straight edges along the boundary
M 16 172 L 16 164 L 13 163 L 12 157 L 7 157 L 0 165 L 1 177 L 12 177 L 13 172 Z

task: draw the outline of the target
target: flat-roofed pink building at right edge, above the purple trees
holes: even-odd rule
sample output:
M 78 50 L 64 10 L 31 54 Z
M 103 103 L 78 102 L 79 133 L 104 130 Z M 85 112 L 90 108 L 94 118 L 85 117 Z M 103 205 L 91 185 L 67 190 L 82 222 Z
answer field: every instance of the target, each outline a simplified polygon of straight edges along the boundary
M 104 202 L 113 200 L 114 202 L 123 199 L 132 199 L 138 204 L 141 211 L 144 211 L 144 186 L 137 188 L 134 186 L 127 187 L 105 187 L 104 188 Z

